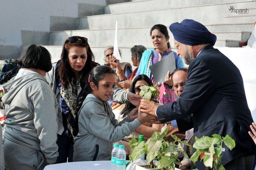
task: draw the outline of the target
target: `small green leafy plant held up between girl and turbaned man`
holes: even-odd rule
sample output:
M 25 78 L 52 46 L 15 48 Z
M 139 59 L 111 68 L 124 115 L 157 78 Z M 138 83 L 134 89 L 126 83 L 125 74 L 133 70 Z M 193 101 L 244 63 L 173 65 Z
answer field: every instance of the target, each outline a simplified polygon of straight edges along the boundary
M 158 98 L 159 96 L 159 91 L 155 84 L 153 86 L 143 85 L 140 86 L 140 89 L 140 96 L 145 100 L 153 101 L 154 98 Z

